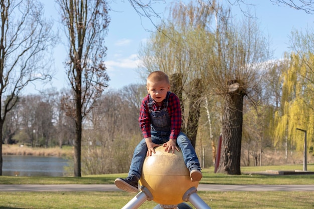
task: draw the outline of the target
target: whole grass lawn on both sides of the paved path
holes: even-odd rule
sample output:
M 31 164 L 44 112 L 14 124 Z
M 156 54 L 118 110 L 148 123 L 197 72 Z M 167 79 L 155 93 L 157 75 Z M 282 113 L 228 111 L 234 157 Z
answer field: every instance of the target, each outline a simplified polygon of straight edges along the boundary
M 215 174 L 213 168 L 203 169 L 200 183 L 215 184 L 313 184 L 314 175 L 259 175 L 250 174 L 265 170 L 302 170 L 302 165 L 241 167 L 242 175 Z M 314 171 L 314 164 L 307 165 Z M 0 176 L 0 184 L 108 184 L 123 174 L 91 175 L 75 177 L 15 177 Z M 134 193 L 114 192 L 1 192 L 0 209 L 89 209 L 122 208 L 134 197 Z M 314 191 L 198 191 L 198 195 L 212 209 L 312 209 Z M 145 201 L 139 209 L 152 209 L 158 203 Z M 191 203 L 188 202 L 192 206 Z M 193 206 L 192 206 L 193 207 Z M 195 208 L 195 207 L 193 207 Z

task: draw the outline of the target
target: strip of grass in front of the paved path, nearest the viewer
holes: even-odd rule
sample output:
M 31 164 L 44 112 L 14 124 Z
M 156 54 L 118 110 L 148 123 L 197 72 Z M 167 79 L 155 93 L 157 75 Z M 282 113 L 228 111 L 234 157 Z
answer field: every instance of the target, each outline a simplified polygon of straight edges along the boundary
M 314 192 L 198 192 L 212 209 L 312 209 Z M 0 192 L 0 209 L 122 208 L 134 194 L 126 192 Z M 139 209 L 158 203 L 145 201 Z M 192 206 L 190 202 L 189 205 Z M 195 207 L 193 207 L 195 208 Z

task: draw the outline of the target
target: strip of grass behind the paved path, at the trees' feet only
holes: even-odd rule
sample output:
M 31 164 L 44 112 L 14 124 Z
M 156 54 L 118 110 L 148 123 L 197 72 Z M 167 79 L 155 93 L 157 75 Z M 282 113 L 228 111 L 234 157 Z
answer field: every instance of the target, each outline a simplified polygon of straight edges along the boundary
M 242 167 L 242 175 L 214 173 L 213 168 L 203 169 L 200 183 L 205 184 L 314 184 L 314 174 L 309 175 L 261 175 L 253 172 L 266 170 L 301 170 L 302 165 Z M 314 171 L 314 164 L 307 165 Z M 253 174 L 252 174 L 253 173 Z M 83 177 L 23 177 L 0 176 L 0 184 L 113 184 L 117 177 L 127 173 L 89 175 Z M 1 209 L 1 208 L 0 208 Z

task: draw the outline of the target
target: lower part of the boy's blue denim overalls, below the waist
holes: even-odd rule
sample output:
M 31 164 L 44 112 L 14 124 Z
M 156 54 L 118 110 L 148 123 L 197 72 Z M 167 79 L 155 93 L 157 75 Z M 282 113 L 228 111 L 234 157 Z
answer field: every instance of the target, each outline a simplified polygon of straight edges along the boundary
M 170 131 L 151 131 L 151 141 L 155 144 L 164 144 L 169 141 Z M 193 167 L 200 167 L 199 159 L 190 139 L 182 132 L 177 138 L 177 144 L 182 151 L 184 162 L 189 170 Z M 147 145 L 145 139 L 142 139 L 135 147 L 131 166 L 128 175 L 135 175 L 140 178 L 144 159 L 147 154 Z

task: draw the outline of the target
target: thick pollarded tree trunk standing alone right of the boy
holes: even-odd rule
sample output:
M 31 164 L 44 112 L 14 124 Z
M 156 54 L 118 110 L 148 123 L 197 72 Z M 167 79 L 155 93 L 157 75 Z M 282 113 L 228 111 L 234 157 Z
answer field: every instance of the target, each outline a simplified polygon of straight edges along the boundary
M 230 85 L 229 93 L 225 96 L 218 172 L 240 175 L 244 93 L 234 84 Z

